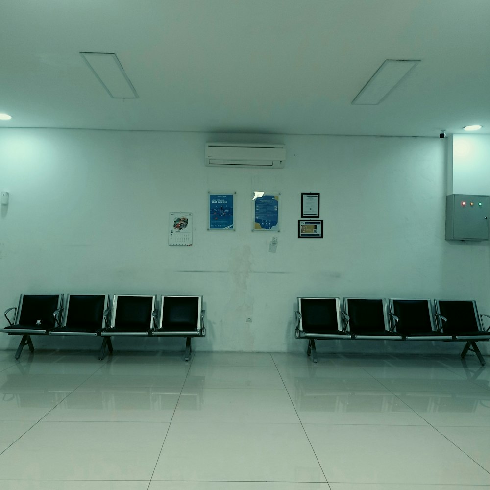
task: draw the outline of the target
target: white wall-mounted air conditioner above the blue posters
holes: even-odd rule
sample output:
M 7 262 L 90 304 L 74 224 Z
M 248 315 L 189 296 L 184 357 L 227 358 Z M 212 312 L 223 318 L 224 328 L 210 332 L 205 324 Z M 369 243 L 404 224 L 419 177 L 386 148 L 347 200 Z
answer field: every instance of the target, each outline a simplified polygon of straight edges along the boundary
M 264 143 L 206 143 L 206 165 L 282 169 L 286 147 Z

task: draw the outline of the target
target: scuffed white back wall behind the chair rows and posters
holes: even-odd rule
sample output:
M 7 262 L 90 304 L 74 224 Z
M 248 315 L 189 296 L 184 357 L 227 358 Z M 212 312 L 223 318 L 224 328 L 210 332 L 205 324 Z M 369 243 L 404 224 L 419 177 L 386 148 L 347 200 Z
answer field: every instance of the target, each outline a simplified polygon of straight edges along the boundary
M 206 141 L 285 143 L 282 170 L 204 165 Z M 202 294 L 196 350 L 293 351 L 298 295 L 475 298 L 490 311 L 489 248 L 444 240 L 439 138 L 0 130 L 0 308 L 21 293 Z M 251 232 L 251 191 L 282 194 L 279 233 Z M 237 192 L 235 232 L 207 230 L 207 193 Z M 301 192 L 320 193 L 324 238 L 297 238 Z M 194 212 L 194 245 L 169 247 L 168 213 Z M 277 252 L 268 252 L 272 236 Z M 252 316 L 253 323 L 245 323 Z M 5 322 L 4 322 L 5 323 Z M 127 342 L 126 342 L 127 341 Z M 0 336 L 0 348 L 18 337 Z M 35 338 L 98 348 L 95 339 Z M 115 348 L 183 348 L 117 339 Z M 320 343 L 319 343 L 320 344 Z M 319 350 L 458 351 L 431 343 Z

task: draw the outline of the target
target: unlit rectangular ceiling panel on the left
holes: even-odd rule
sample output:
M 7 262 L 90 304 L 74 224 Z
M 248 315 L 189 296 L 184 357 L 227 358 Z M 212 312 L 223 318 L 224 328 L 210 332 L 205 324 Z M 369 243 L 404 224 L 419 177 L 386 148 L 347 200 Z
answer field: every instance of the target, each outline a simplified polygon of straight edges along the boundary
M 112 98 L 138 98 L 115 53 L 80 53 Z

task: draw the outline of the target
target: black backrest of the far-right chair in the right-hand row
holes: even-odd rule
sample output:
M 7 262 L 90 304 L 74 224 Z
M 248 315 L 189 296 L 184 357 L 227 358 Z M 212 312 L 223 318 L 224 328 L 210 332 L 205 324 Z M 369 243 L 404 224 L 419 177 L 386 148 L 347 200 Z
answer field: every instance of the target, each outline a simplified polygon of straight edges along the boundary
M 481 330 L 476 301 L 450 301 L 436 299 L 436 312 L 447 319 L 441 321 L 442 332 L 448 335 L 461 335 L 465 332 Z

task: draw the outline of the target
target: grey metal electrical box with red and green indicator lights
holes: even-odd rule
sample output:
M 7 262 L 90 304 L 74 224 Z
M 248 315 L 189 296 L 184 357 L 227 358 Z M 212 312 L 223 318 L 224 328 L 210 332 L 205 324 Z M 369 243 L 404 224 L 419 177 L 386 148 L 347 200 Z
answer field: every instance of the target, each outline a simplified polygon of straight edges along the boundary
M 489 240 L 490 196 L 446 196 L 446 240 Z

